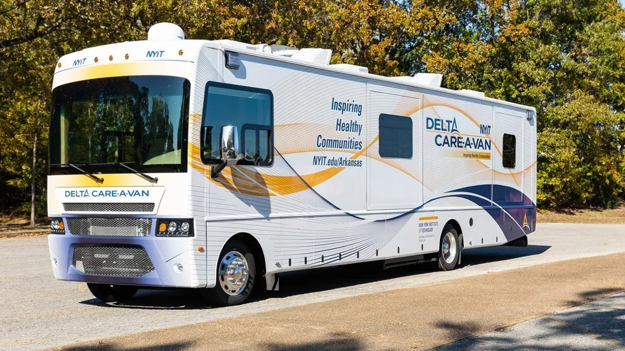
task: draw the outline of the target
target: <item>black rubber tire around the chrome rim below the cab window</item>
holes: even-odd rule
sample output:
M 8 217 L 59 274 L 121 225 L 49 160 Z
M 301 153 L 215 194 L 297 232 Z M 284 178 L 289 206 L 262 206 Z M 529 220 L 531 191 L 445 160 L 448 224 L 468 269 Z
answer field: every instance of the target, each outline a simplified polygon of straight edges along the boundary
M 244 257 L 247 262 L 247 282 L 244 284 L 244 287 L 239 291 L 236 295 L 234 294 L 234 290 L 231 290 L 231 294 L 226 292 L 226 289 L 222 286 L 221 282 L 225 282 L 227 286 L 226 280 L 224 277 L 219 274 L 219 270 L 225 267 L 222 264 L 224 259 L 228 259 L 226 257 L 227 254 L 231 252 L 238 252 Z M 222 266 L 222 267 L 220 267 Z M 254 291 L 254 286 L 256 285 L 256 260 L 254 260 L 254 255 L 249 247 L 239 240 L 230 240 L 226 243 L 224 248 L 221 250 L 221 254 L 219 254 L 219 260 L 217 261 L 216 267 L 217 280 L 215 287 L 202 289 L 202 297 L 206 300 L 209 305 L 217 305 L 217 306 L 233 306 L 240 305 L 246 302 L 249 297 L 252 295 Z

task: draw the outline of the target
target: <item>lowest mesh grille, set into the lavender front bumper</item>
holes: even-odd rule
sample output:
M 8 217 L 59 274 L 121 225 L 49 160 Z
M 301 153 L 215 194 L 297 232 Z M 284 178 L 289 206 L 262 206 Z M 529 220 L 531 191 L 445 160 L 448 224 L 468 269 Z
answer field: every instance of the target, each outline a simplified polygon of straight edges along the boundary
M 78 246 L 72 265 L 84 274 L 141 277 L 154 270 L 148 252 L 138 246 Z

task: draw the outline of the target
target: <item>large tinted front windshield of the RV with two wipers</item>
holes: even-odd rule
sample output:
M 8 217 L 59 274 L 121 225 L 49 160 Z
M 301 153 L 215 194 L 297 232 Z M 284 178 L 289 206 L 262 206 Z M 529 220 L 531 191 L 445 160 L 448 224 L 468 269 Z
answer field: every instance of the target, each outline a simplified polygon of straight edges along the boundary
M 181 77 L 91 79 L 53 91 L 51 174 L 186 171 L 190 84 Z

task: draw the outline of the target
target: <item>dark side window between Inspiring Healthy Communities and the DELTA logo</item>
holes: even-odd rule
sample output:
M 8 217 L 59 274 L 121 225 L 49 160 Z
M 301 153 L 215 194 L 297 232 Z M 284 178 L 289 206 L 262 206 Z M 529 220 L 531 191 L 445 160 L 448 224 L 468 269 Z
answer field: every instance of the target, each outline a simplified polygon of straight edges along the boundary
M 412 119 L 380 114 L 379 152 L 382 157 L 412 158 Z

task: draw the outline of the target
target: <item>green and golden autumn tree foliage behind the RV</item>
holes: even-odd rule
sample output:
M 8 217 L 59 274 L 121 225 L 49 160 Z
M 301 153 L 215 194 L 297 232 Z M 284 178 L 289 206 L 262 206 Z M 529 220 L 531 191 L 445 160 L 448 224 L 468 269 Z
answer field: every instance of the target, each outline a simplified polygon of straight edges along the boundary
M 45 191 L 54 64 L 141 40 L 157 22 L 190 39 L 327 47 L 376 74 L 437 72 L 452 89 L 535 106 L 538 202 L 617 204 L 625 191 L 625 11 L 616 0 L 7 0 L 0 4 L 0 211 Z M 41 197 L 38 197 L 41 198 Z

